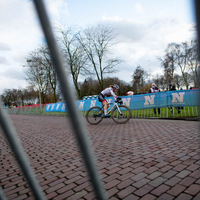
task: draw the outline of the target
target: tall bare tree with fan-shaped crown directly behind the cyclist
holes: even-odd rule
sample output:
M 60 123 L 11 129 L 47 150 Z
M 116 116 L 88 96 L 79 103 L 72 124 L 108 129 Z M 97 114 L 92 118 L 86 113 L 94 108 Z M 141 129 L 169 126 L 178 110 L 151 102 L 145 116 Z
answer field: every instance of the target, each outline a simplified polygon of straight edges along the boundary
M 104 88 L 105 74 L 116 72 L 116 66 L 122 62 L 119 58 L 108 59 L 108 53 L 114 45 L 112 42 L 114 38 L 114 30 L 109 25 L 103 24 L 88 27 L 77 35 L 93 66 L 101 90 Z

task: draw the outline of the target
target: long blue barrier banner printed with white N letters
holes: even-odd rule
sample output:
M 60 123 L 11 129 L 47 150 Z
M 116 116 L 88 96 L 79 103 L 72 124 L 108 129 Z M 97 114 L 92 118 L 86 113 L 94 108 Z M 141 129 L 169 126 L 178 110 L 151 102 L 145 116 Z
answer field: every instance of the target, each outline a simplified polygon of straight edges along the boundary
M 148 93 L 133 96 L 121 96 L 123 104 L 131 110 L 164 108 L 164 107 L 187 107 L 199 106 L 199 90 L 179 90 L 158 93 Z M 108 97 L 109 103 L 114 103 L 113 97 Z M 87 111 L 91 107 L 102 107 L 98 98 L 76 101 L 79 111 Z M 45 112 L 65 112 L 65 103 L 53 103 L 46 106 Z

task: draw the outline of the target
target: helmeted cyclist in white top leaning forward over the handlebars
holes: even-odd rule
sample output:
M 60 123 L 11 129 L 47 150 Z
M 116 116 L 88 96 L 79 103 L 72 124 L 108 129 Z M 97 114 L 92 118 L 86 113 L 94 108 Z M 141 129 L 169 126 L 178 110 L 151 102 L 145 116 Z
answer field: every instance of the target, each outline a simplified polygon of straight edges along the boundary
M 117 90 L 119 90 L 119 86 L 117 84 L 110 85 L 110 87 L 108 87 L 108 88 L 104 89 L 103 91 L 101 91 L 101 93 L 98 96 L 99 101 L 104 104 L 104 106 L 103 106 L 104 117 L 110 117 L 110 115 L 107 114 L 107 109 L 109 108 L 109 104 L 105 100 L 105 96 L 112 95 L 114 97 L 115 101 L 116 101 L 117 100 L 117 95 L 115 95 L 115 92 L 117 92 Z

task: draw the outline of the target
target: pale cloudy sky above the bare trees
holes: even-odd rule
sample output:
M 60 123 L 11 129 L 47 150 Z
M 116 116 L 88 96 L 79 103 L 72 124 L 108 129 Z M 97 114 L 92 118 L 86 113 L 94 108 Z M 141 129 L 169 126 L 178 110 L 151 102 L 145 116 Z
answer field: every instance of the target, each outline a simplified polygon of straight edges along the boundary
M 126 61 L 112 76 L 126 82 L 138 65 L 163 74 L 157 56 L 162 56 L 171 42 L 196 37 L 193 0 L 45 0 L 45 5 L 52 26 L 84 28 L 110 23 L 120 41 L 112 56 Z M 4 89 L 28 86 L 25 58 L 43 38 L 31 0 L 0 1 L 0 94 Z

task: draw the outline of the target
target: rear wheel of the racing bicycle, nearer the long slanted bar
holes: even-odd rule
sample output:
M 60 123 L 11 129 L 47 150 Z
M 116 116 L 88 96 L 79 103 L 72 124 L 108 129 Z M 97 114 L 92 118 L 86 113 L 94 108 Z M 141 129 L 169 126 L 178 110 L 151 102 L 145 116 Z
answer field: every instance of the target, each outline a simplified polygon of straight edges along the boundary
M 100 123 L 102 119 L 103 111 L 100 107 L 92 107 L 86 113 L 86 120 L 92 125 Z

